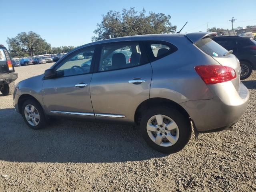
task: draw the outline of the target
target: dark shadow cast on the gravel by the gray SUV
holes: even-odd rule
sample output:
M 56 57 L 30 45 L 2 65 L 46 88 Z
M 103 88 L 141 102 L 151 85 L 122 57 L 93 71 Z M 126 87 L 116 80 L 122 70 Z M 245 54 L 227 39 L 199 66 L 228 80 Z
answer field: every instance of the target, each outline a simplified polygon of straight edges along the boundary
M 14 109 L 0 109 L 0 160 L 125 162 L 162 156 L 132 126 L 54 120 L 42 130 L 32 130 Z

